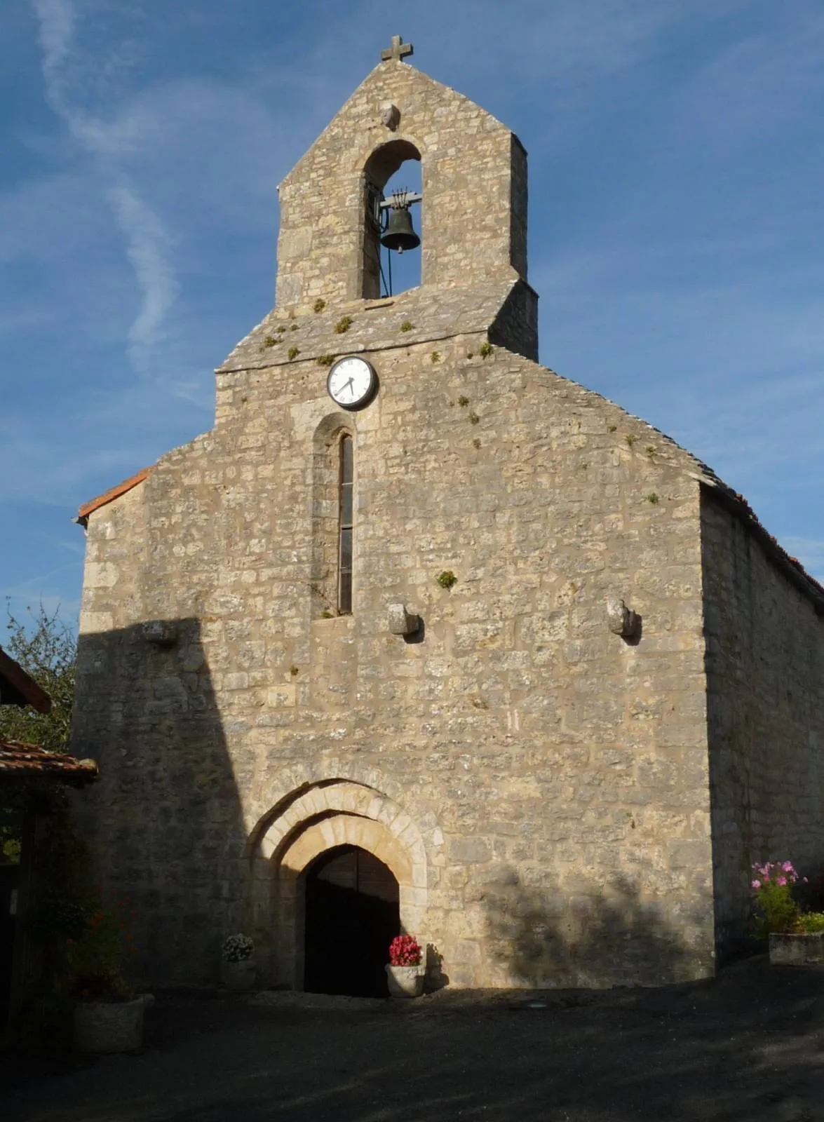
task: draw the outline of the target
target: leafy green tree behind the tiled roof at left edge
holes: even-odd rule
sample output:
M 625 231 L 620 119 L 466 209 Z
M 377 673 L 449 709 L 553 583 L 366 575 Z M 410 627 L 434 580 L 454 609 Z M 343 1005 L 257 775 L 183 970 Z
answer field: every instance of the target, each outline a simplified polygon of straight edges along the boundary
M 30 622 L 8 613 L 8 635 L 2 646 L 40 689 L 52 698 L 49 712 L 19 706 L 0 706 L 0 738 L 27 741 L 53 752 L 65 752 L 74 705 L 74 664 L 77 641 L 59 611 L 49 614 L 40 604 L 29 608 Z

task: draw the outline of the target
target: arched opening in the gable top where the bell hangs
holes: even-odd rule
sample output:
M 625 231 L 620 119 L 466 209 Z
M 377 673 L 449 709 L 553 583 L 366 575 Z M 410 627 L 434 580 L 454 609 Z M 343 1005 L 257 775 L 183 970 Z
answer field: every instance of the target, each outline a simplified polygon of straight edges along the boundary
M 383 227 L 394 222 L 422 238 L 422 203 L 413 203 L 405 211 L 381 208 L 381 201 L 391 201 L 397 192 L 420 195 L 422 190 L 421 154 L 410 140 L 390 140 L 377 147 L 364 166 L 364 267 L 363 296 L 375 300 L 392 292 L 397 295 L 421 283 L 420 248 L 408 252 L 387 250 L 381 245 Z M 383 215 L 383 217 L 382 217 Z

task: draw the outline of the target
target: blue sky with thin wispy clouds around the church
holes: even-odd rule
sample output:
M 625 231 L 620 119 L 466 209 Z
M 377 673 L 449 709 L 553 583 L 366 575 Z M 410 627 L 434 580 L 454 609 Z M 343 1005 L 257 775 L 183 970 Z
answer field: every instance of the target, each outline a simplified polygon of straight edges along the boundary
M 276 184 L 393 34 L 530 154 L 541 361 L 824 578 L 824 7 L 3 0 L 0 595 L 76 617 L 77 506 L 211 425 Z

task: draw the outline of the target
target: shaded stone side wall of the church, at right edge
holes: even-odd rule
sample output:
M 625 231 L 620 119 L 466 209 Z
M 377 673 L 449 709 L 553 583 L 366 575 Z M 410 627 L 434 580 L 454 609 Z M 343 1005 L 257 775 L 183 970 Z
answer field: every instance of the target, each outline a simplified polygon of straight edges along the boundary
M 754 861 L 824 867 L 824 618 L 712 491 L 702 533 L 716 922 L 734 950 Z

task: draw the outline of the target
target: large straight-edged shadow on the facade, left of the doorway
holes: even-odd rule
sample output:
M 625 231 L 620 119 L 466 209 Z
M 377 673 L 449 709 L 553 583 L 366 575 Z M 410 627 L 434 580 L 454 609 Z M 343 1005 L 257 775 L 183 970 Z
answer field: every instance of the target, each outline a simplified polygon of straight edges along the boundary
M 225 725 L 246 724 L 218 711 L 198 619 L 81 635 L 71 751 L 101 778 L 76 816 L 103 890 L 131 898 L 141 983 L 213 982 L 220 942 L 241 930 L 246 838 Z

